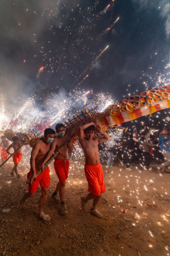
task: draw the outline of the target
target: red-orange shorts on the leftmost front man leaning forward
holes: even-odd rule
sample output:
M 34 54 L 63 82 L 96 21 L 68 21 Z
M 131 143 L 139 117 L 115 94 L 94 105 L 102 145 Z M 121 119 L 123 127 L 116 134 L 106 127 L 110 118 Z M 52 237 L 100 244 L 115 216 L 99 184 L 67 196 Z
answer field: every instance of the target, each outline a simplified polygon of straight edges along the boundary
M 38 171 L 38 169 L 36 169 L 36 172 Z M 32 175 L 31 170 L 29 171 L 29 173 L 27 173 L 27 179 L 29 179 L 29 177 Z M 42 173 L 40 173 L 40 175 L 36 178 L 35 181 L 33 181 L 32 185 L 29 185 L 29 193 L 35 193 L 36 190 L 38 189 L 38 184 L 40 182 L 40 187 L 41 188 L 49 188 L 50 186 L 50 170 L 49 170 L 49 166 L 47 166 L 47 168 L 45 170 L 43 170 Z

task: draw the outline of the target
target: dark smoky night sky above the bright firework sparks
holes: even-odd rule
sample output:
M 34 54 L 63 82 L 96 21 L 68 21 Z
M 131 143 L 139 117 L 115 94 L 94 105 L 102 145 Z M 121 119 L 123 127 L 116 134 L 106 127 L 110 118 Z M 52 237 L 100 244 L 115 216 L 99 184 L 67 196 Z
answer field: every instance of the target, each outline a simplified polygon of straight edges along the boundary
M 1 0 L 0 20 L 0 84 L 10 108 L 31 95 L 43 102 L 71 92 L 87 74 L 80 88 L 116 100 L 154 87 L 158 76 L 169 81 L 169 0 Z

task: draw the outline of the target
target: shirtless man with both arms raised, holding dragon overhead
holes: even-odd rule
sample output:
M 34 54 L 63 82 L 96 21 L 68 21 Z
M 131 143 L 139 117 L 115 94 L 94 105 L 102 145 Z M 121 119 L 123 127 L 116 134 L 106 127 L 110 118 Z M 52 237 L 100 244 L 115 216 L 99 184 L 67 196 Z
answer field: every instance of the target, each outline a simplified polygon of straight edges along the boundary
M 109 141 L 110 137 L 105 132 L 99 130 L 103 137 L 94 138 L 94 130 L 94 123 L 84 124 L 79 127 L 79 141 L 85 156 L 86 164 L 84 170 L 88 181 L 89 191 L 86 196 L 81 197 L 81 205 L 82 210 L 87 212 L 87 202 L 93 199 L 93 205 L 90 212 L 98 218 L 102 218 L 103 215 L 96 208 L 101 193 L 105 192 L 104 173 L 98 154 L 98 142 Z

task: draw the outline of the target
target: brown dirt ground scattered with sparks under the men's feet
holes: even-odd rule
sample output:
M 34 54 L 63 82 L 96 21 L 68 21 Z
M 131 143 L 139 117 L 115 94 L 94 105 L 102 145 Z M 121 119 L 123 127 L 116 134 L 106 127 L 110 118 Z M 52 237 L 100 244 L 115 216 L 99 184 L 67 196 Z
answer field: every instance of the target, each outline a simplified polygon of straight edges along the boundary
M 26 160 L 25 160 L 26 161 Z M 29 163 L 29 161 L 27 162 Z M 51 198 L 57 177 L 50 165 L 51 185 L 45 213 L 51 221 L 38 218 L 38 198 L 17 207 L 27 191 L 26 166 L 20 164 L 20 180 L 10 176 L 12 161 L 0 169 L 0 252 L 1 255 L 170 255 L 170 175 L 160 175 L 132 166 L 129 172 L 118 164 L 104 168 L 105 189 L 98 210 L 104 219 L 82 212 L 80 196 L 87 191 L 81 161 L 70 161 L 66 182 L 67 216 L 59 216 L 59 205 Z M 90 207 L 90 204 L 89 204 Z M 10 209 L 8 212 L 6 209 Z

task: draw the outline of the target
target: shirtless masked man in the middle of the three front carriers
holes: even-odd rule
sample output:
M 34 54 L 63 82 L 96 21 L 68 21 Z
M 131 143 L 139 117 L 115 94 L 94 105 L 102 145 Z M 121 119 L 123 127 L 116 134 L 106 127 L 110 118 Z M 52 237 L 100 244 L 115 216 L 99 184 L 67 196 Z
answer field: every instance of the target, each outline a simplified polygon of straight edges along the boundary
M 54 140 L 45 158 L 43 161 L 43 165 L 49 160 L 54 152 L 58 150 L 68 139 L 65 137 L 65 126 L 63 124 L 56 125 L 56 134 L 58 138 Z M 52 193 L 53 198 L 57 201 L 61 200 L 61 209 L 60 214 L 64 215 L 68 213 L 65 204 L 65 182 L 68 178 L 68 169 L 69 169 L 69 161 L 68 161 L 68 150 L 70 153 L 73 152 L 72 143 L 68 143 L 62 150 L 59 150 L 58 156 L 56 156 L 54 161 L 54 169 L 56 171 L 56 175 L 58 176 L 59 182 L 56 186 L 56 190 Z M 59 196 L 58 196 L 59 193 Z

